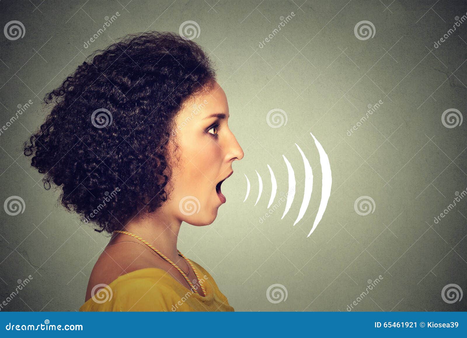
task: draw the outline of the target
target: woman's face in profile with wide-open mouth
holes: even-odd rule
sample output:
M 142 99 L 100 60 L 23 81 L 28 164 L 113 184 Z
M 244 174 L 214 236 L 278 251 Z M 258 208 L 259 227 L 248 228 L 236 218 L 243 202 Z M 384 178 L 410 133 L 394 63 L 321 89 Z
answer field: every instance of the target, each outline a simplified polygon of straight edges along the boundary
M 167 207 L 178 220 L 211 224 L 225 202 L 218 183 L 233 173 L 232 162 L 243 158 L 228 117 L 226 93 L 217 82 L 209 93 L 187 102 L 176 117 L 178 150 L 172 158 L 179 161 L 171 164 L 173 190 Z

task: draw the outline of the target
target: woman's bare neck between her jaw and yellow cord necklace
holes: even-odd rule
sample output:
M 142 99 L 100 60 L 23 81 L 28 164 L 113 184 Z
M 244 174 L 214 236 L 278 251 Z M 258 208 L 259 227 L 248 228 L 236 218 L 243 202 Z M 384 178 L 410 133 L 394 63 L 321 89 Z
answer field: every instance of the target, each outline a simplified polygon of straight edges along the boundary
M 153 212 L 143 219 L 131 220 L 121 230 L 142 237 L 142 239 L 149 242 L 150 245 L 154 246 L 172 262 L 177 264 L 178 260 L 181 259 L 177 251 L 178 232 L 181 224 L 182 221 L 180 220 L 170 219 L 170 217 L 163 215 L 161 212 Z M 112 238 L 114 237 L 123 239 L 127 235 L 117 232 L 113 234 Z

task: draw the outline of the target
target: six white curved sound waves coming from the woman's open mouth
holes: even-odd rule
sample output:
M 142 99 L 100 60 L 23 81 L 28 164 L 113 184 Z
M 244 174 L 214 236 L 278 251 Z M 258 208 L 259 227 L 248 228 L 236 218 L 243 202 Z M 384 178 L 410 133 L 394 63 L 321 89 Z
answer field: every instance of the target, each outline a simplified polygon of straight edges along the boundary
M 316 214 L 315 220 L 313 222 L 313 226 L 310 230 L 310 233 L 308 234 L 307 237 L 310 237 L 310 235 L 313 233 L 313 231 L 316 229 L 318 226 L 318 223 L 321 221 L 323 218 L 324 212 L 326 210 L 327 203 L 329 201 L 329 197 L 331 195 L 331 186 L 332 186 L 332 174 L 331 174 L 331 165 L 329 163 L 329 157 L 327 156 L 325 150 L 321 146 L 321 144 L 318 142 L 316 137 L 312 133 L 310 133 L 311 137 L 313 137 L 313 140 L 315 141 L 316 148 L 318 149 L 318 154 L 319 154 L 319 162 L 321 164 L 321 173 L 322 173 L 322 181 L 321 181 L 321 201 L 319 202 L 319 208 L 318 208 L 318 213 Z M 303 195 L 303 201 L 300 206 L 300 210 L 298 212 L 297 219 L 293 223 L 293 225 L 297 224 L 305 215 L 306 210 L 308 209 L 308 205 L 310 204 L 311 200 L 311 193 L 313 191 L 313 171 L 311 169 L 310 162 L 308 161 L 308 158 L 306 158 L 304 152 L 300 149 L 298 144 L 295 144 L 297 146 L 298 151 L 302 155 L 303 159 L 303 164 L 304 164 L 304 172 L 305 172 L 305 182 L 304 182 L 304 195 Z M 289 190 L 287 193 L 287 201 L 285 203 L 285 210 L 284 213 L 281 217 L 281 219 L 284 218 L 285 215 L 290 210 L 290 207 L 292 206 L 292 202 L 295 197 L 295 192 L 296 192 L 296 181 L 295 181 L 295 173 L 292 168 L 292 165 L 290 164 L 289 160 L 282 155 L 285 165 L 287 166 L 287 173 L 289 175 Z M 277 182 L 276 182 L 276 177 L 274 176 L 274 172 L 272 171 L 271 167 L 268 165 L 269 169 L 269 174 L 271 176 L 271 197 L 269 198 L 268 202 L 268 208 L 271 206 L 272 202 L 274 201 L 274 198 L 276 197 L 276 192 L 277 192 Z M 255 205 L 258 203 L 258 201 L 261 198 L 262 194 L 262 179 L 260 174 L 255 170 L 256 175 L 258 176 L 258 185 L 259 185 L 259 192 L 258 192 L 258 198 L 256 199 Z M 247 194 L 245 196 L 245 199 L 243 201 L 246 201 L 248 198 L 248 195 L 250 193 L 250 181 L 248 180 L 248 177 L 246 174 L 245 178 L 247 179 Z M 281 193 L 283 194 L 283 193 Z

